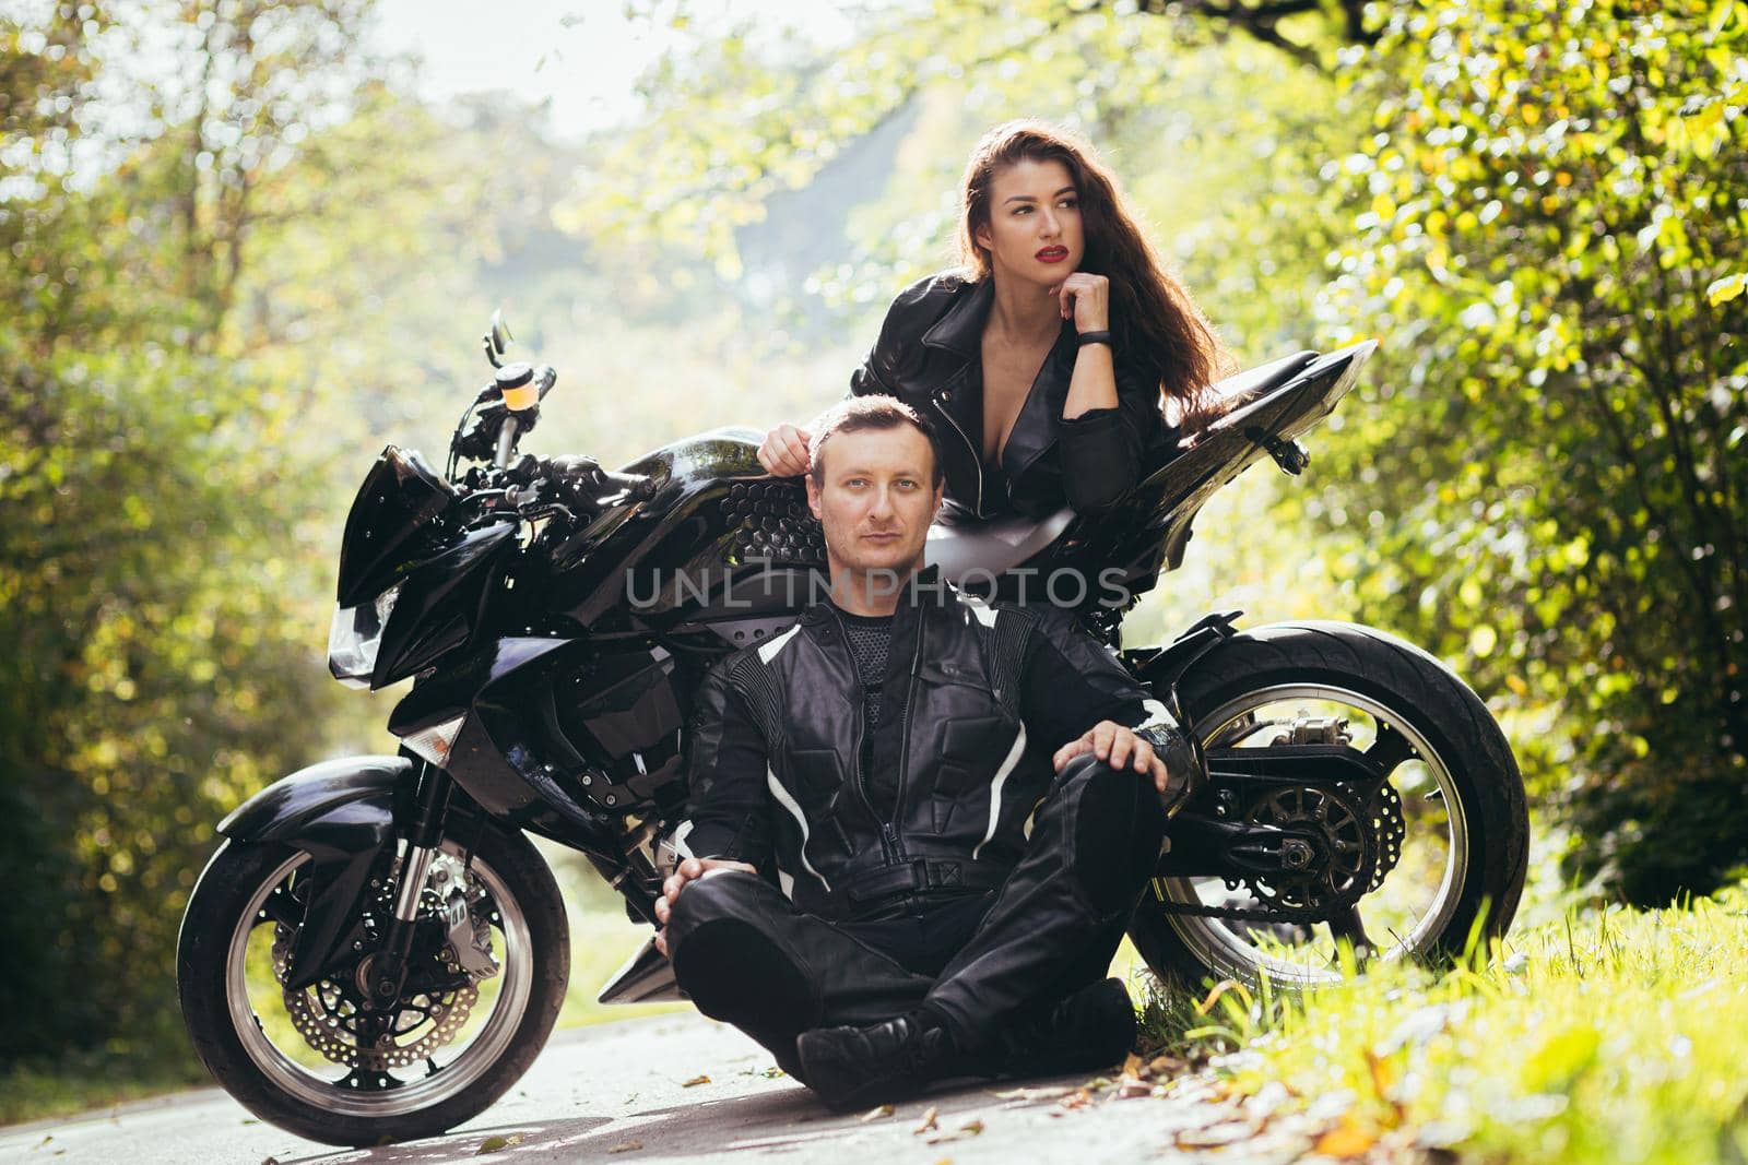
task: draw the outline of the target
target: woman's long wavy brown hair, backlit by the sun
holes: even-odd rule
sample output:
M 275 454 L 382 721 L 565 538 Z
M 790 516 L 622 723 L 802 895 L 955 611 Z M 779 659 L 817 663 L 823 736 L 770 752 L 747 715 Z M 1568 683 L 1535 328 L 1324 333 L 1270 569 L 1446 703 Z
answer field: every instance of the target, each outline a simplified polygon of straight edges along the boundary
M 1086 231 L 1080 269 L 1110 279 L 1117 353 L 1159 377 L 1161 395 L 1178 402 L 1185 433 L 1211 421 L 1217 402 L 1208 386 L 1231 367 L 1231 356 L 1183 285 L 1164 271 L 1124 208 L 1115 178 L 1086 140 L 1040 121 L 1010 121 L 986 133 L 965 164 L 960 260 L 975 278 L 989 278 L 989 253 L 977 245 L 977 229 L 989 222 L 995 176 L 1019 161 L 1068 168 Z

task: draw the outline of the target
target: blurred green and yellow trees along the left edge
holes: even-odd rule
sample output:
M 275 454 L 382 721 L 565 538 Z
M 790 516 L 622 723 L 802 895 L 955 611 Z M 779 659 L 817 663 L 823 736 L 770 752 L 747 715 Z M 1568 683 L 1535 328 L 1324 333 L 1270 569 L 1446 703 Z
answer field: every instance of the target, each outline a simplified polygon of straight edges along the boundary
M 140 3 L 0 26 L 0 245 L 19 260 L 0 323 L 0 873 L 31 955 L 0 989 L 7 1062 L 187 1062 L 175 927 L 212 828 L 323 744 L 304 728 L 332 693 L 311 636 L 325 562 L 295 554 L 320 487 L 295 454 L 302 402 L 225 328 L 255 190 L 318 117 L 297 86 L 336 80 L 357 19 Z M 150 33 L 203 84 L 129 87 L 115 61 Z M 150 117 L 119 131 L 122 108 Z

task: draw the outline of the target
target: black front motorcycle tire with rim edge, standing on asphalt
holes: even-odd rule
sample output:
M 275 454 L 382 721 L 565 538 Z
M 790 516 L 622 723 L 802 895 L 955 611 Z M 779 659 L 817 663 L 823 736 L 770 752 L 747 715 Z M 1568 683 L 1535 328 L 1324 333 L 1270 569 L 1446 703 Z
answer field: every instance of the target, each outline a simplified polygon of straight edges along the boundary
M 444 849 L 460 856 L 456 847 Z M 434 1137 L 482 1113 L 533 1064 L 565 1003 L 570 933 L 545 861 L 519 833 L 488 830 L 481 837 L 467 877 L 484 886 L 496 908 L 488 934 L 502 966 L 484 980 L 498 980 L 491 1013 L 440 1071 L 428 1058 L 432 1071 L 423 1079 L 397 1079 L 392 1072 L 406 1069 L 392 1069 L 374 1081 L 371 1074 L 360 1078 L 357 1067 L 348 1071 L 315 1055 L 295 1020 L 287 1020 L 290 1006 L 273 1022 L 264 1022 L 255 1008 L 266 1001 L 260 1010 L 271 1013 L 278 983 L 271 964 L 266 975 L 260 969 L 260 938 L 250 954 L 250 936 L 271 926 L 267 896 L 276 887 L 292 893 L 294 873 L 308 861 L 308 854 L 288 845 L 227 840 L 201 873 L 177 943 L 177 992 L 201 1062 L 250 1113 L 323 1144 L 379 1146 Z M 409 996 L 402 999 L 414 1006 Z M 507 1008 L 502 1015 L 500 1006 Z M 456 1036 L 463 1034 L 465 1025 Z M 432 1055 L 451 1050 L 439 1046 Z

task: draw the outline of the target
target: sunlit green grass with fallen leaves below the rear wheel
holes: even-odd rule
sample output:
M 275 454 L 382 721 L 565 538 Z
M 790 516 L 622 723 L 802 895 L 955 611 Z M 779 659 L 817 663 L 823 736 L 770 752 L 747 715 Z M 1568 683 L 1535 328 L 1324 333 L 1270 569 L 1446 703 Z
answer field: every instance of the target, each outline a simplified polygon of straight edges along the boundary
M 1379 964 L 1299 997 L 1176 992 L 1145 1018 L 1155 1044 L 1206 1058 L 1238 1093 L 1346 1093 L 1365 1135 L 1465 1162 L 1748 1156 L 1743 887 L 1571 908 L 1442 975 Z

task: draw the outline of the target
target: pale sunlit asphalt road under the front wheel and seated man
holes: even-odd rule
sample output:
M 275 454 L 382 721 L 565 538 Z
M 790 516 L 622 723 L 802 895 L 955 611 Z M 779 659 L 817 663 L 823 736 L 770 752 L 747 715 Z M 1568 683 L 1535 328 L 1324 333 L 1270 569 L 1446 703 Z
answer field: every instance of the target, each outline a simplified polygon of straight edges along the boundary
M 696 1081 L 708 1076 L 706 1083 Z M 0 1162 L 1292 1162 L 1297 1121 L 1217 1100 L 1203 1085 L 1122 1100 L 1084 1078 L 932 1093 L 890 1114 L 836 1116 L 731 1027 L 692 1013 L 558 1034 L 495 1107 L 446 1137 L 334 1149 L 260 1123 L 218 1088 L 0 1128 Z M 1134 1090 L 1141 1092 L 1141 1090 Z M 1068 1100 L 1068 1104 L 1065 1104 Z M 923 1128 L 935 1109 L 933 1128 Z M 867 1118 L 865 1118 L 867 1116 Z M 1204 1148 L 1203 1148 L 1204 1146 Z M 1208 1156 L 1211 1155 L 1211 1158 Z

